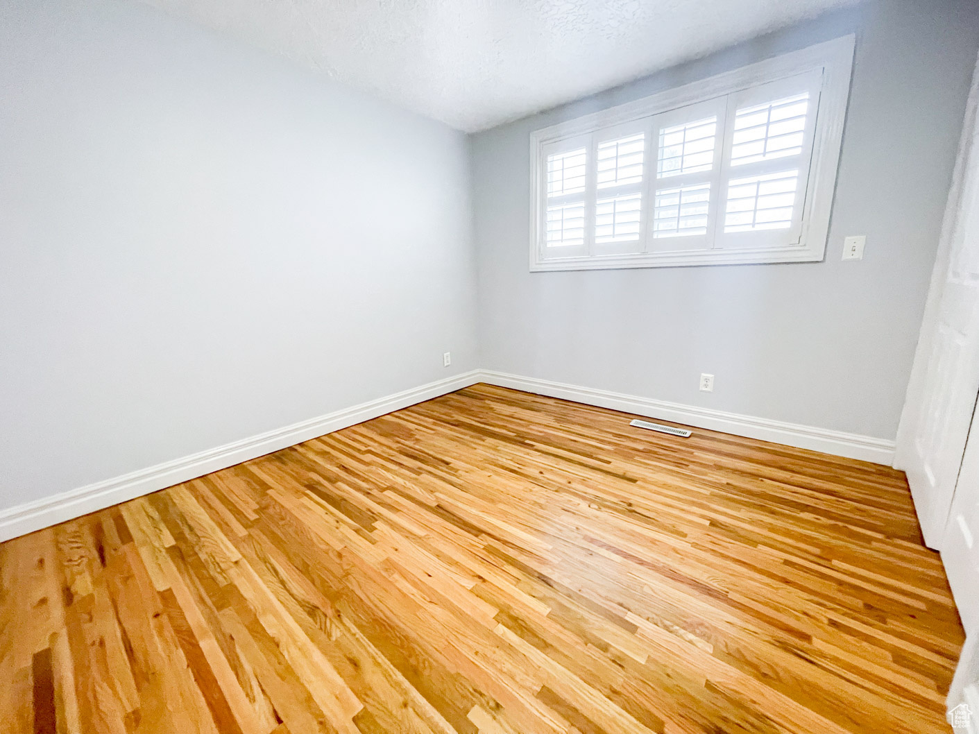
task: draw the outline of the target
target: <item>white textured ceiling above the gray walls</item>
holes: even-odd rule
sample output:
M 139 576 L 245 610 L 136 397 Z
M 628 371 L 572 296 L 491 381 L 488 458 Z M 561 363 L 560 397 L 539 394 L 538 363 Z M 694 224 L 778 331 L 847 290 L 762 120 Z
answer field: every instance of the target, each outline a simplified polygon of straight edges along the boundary
M 473 132 L 856 0 L 149 0 Z

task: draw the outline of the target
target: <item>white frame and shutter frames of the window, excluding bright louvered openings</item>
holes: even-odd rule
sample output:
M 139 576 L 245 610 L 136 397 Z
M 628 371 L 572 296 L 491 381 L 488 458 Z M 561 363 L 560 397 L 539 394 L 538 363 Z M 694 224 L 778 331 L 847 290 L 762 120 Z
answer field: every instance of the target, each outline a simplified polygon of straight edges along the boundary
M 591 115 L 552 125 L 531 133 L 531 252 L 532 271 L 605 270 L 632 267 L 667 267 L 678 265 L 759 264 L 771 262 L 816 262 L 825 254 L 829 217 L 832 208 L 836 172 L 839 165 L 843 124 L 850 95 L 855 36 L 848 35 L 793 51 L 782 56 L 734 69 L 717 76 L 654 94 L 644 99 L 610 108 Z M 730 166 L 732 119 L 743 100 L 751 99 L 756 87 L 780 80 L 808 75 L 812 80 L 809 115 L 815 124 L 807 123 L 800 161 L 799 188 L 793 221 L 788 229 L 764 232 L 724 233 L 723 217 L 726 182 L 736 177 L 740 166 Z M 726 97 L 725 109 L 719 98 Z M 742 100 L 741 104 L 738 101 Z M 687 185 L 706 180 L 698 173 L 656 178 L 658 129 L 667 126 L 672 113 L 679 108 L 702 104 L 705 109 L 719 110 L 718 138 L 715 152 L 716 170 L 711 178 L 711 220 L 707 235 L 654 238 L 648 221 L 653 211 L 657 189 L 674 184 Z M 662 124 L 661 124 L 662 122 Z M 673 124 L 673 122 L 669 122 Z M 613 130 L 613 128 L 615 128 Z M 644 177 L 639 241 L 624 246 L 596 245 L 594 242 L 595 152 L 600 140 L 619 131 L 644 129 Z M 583 195 L 584 244 L 563 248 L 546 247 L 544 227 L 547 210 L 546 171 L 548 155 L 564 149 L 584 147 L 587 152 L 586 185 Z M 718 156 L 721 156 L 720 162 Z M 774 170 L 768 161 L 747 163 L 745 173 Z M 715 191 L 714 189 L 718 190 Z M 719 219 L 721 220 L 719 222 Z M 548 252 L 550 250 L 551 252 Z

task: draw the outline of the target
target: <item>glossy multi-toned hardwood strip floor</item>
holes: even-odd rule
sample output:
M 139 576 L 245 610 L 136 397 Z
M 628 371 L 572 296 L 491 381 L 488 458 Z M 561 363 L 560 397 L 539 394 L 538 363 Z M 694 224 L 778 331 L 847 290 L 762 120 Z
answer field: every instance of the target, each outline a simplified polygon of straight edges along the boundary
M 2 730 L 951 731 L 903 475 L 628 423 L 480 385 L 4 543 Z

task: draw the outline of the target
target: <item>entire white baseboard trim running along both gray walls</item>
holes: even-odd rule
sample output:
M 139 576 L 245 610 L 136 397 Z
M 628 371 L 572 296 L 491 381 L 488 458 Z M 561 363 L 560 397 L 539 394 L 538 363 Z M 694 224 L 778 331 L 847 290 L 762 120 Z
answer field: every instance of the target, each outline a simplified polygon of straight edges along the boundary
M 141 469 L 111 480 L 87 484 L 8 510 L 0 510 L 0 541 L 9 540 L 41 528 L 49 528 L 72 518 L 111 507 L 119 502 L 125 502 L 173 484 L 187 482 L 196 477 L 210 474 L 210 472 L 226 469 L 272 451 L 302 443 L 310 438 L 349 428 L 386 413 L 481 382 L 501 388 L 525 390 L 538 395 L 560 397 L 587 405 L 621 410 L 648 418 L 659 418 L 660 420 L 710 431 L 722 431 L 735 436 L 759 438 L 774 443 L 822 451 L 836 456 L 863 459 L 877 464 L 889 465 L 894 459 L 894 441 L 884 438 L 846 434 L 841 431 L 829 431 L 794 423 L 771 421 L 767 418 L 725 413 L 721 410 L 682 405 L 623 392 L 583 388 L 549 380 L 509 375 L 503 372 L 473 370 L 446 380 L 429 383 L 412 390 L 396 392 L 387 397 L 328 413 L 318 418 L 311 418 L 292 426 L 243 438 L 208 451 L 201 451 L 180 459 L 157 464 L 148 469 Z

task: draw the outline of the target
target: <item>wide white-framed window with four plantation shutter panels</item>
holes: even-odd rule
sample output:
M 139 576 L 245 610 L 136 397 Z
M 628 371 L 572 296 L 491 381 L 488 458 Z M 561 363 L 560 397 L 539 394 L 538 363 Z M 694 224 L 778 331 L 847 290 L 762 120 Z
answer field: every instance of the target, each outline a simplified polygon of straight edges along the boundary
M 821 260 L 854 37 L 531 135 L 532 270 Z

